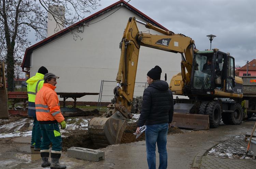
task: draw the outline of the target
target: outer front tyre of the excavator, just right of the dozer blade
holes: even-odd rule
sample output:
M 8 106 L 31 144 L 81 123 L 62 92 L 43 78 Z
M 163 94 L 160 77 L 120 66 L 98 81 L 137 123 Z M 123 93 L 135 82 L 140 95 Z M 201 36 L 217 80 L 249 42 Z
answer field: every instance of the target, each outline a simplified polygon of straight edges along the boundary
M 221 122 L 221 106 L 218 102 L 210 102 L 207 105 L 206 115 L 209 115 L 209 123 L 211 128 L 217 128 Z

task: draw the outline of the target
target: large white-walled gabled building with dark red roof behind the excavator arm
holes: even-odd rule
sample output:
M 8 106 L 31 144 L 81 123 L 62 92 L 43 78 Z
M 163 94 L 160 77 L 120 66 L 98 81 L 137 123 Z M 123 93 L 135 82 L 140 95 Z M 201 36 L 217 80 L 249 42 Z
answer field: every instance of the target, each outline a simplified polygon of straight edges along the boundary
M 30 76 L 34 76 L 39 67 L 45 66 L 49 72 L 60 76 L 56 85 L 57 92 L 99 92 L 101 80 L 116 79 L 120 59 L 119 43 L 129 17 L 135 16 L 138 20 L 167 30 L 125 3 L 120 0 L 27 48 L 23 69 L 30 68 Z M 119 10 L 116 11 L 117 9 Z M 116 12 L 113 13 L 114 11 Z M 113 14 L 108 16 L 111 13 Z M 141 24 L 138 24 L 138 28 L 140 31 L 148 31 Z M 70 30 L 83 39 L 74 40 Z M 160 34 L 154 30 L 150 30 L 150 33 Z M 136 81 L 145 82 L 147 72 L 159 65 L 162 68 L 161 79 L 164 80 L 167 73 L 169 83 L 171 77 L 181 71 L 180 61 L 179 53 L 141 46 Z M 84 96 L 77 101 L 97 102 L 98 97 Z

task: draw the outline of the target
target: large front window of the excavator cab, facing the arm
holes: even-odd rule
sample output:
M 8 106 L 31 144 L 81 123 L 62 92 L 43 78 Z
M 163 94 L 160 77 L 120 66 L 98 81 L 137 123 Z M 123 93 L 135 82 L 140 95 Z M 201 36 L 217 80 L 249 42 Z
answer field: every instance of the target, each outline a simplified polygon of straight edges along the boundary
M 194 56 L 194 77 L 192 88 L 212 89 L 213 53 L 199 53 Z

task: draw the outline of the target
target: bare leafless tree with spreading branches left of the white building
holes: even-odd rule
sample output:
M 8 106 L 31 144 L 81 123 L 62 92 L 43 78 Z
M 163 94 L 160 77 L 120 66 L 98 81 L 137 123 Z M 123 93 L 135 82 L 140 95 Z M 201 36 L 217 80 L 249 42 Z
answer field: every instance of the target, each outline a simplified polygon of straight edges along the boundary
M 47 12 L 58 24 L 67 28 L 83 19 L 99 6 L 100 0 L 0 0 L 0 60 L 6 64 L 8 91 L 13 91 L 14 65 L 20 61 L 30 45 L 29 31 L 35 31 L 35 39 L 45 39 Z M 49 6 L 65 7 L 65 17 L 59 17 Z M 56 28 L 57 28 L 56 25 Z M 72 31 L 72 28 L 70 29 Z M 74 37 L 79 37 L 76 34 Z

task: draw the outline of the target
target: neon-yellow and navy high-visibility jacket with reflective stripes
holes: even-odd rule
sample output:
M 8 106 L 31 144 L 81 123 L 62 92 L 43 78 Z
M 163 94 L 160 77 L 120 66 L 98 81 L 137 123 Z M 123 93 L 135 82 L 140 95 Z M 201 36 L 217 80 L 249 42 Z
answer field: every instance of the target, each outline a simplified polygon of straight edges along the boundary
M 27 80 L 28 83 L 28 116 L 35 117 L 35 95 L 43 87 L 44 75 L 36 73 L 35 76 Z

